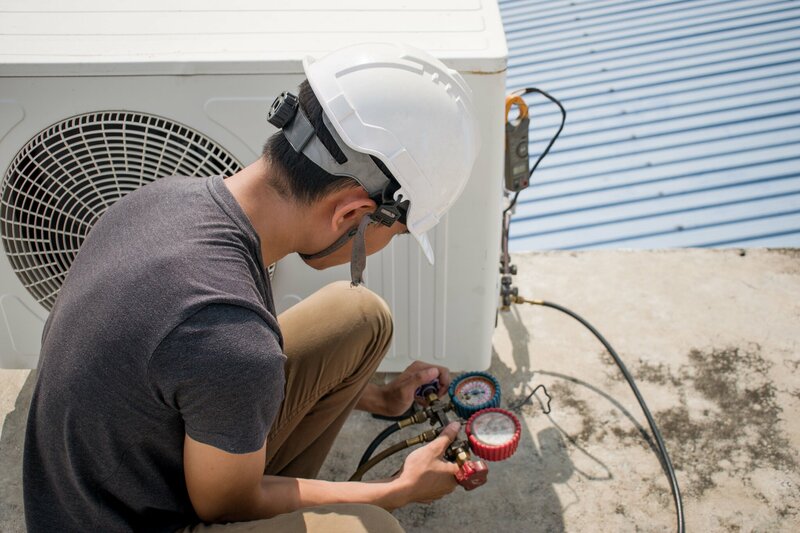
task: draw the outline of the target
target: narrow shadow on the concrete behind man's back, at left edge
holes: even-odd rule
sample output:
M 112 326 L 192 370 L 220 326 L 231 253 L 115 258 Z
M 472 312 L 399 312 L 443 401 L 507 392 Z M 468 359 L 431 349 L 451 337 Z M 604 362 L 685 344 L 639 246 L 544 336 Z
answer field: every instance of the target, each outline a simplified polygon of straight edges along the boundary
M 36 371 L 31 371 L 8 413 L 0 431 L 0 531 L 23 533 L 25 514 L 22 506 L 22 447 L 25 425 L 31 404 Z

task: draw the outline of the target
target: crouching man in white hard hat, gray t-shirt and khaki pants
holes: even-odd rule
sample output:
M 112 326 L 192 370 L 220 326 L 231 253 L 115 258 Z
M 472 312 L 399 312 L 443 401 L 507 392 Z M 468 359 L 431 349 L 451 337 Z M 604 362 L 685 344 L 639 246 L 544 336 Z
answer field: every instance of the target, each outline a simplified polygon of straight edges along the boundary
M 369 383 L 392 334 L 366 255 L 425 231 L 463 189 L 469 89 L 428 54 L 359 45 L 305 62 L 263 157 L 165 178 L 90 232 L 43 336 L 24 457 L 30 531 L 401 531 L 386 512 L 455 488 L 458 427 L 372 483 L 313 479 L 353 408 L 404 412 L 447 369 Z M 428 120 L 451 133 L 426 136 Z M 441 130 L 441 128 L 440 128 Z M 443 157 L 446 154 L 447 157 Z M 276 318 L 264 266 L 351 262 Z M 214 525 L 216 524 L 216 525 Z M 226 525 L 221 525 L 226 524 Z

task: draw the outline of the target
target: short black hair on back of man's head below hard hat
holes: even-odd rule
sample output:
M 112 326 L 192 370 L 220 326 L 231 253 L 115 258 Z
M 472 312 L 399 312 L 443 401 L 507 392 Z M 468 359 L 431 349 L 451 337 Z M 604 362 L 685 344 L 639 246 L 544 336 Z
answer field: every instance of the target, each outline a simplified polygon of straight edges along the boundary
M 347 161 L 322 121 L 322 106 L 308 80 L 303 80 L 300 84 L 297 98 L 325 148 L 337 162 Z M 304 204 L 313 203 L 329 192 L 358 185 L 353 178 L 334 176 L 322 170 L 305 155 L 295 152 L 283 130 L 278 130 L 267 139 L 262 155 L 277 170 L 270 181 L 272 187 L 282 196 Z

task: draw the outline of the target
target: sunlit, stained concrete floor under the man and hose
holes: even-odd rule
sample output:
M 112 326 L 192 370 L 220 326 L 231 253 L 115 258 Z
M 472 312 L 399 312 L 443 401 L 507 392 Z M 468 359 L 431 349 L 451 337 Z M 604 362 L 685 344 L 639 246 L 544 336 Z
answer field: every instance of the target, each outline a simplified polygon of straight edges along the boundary
M 677 469 L 689 531 L 800 528 L 800 421 L 792 416 L 800 410 L 800 250 L 514 259 L 521 294 L 582 314 L 636 377 Z M 594 337 L 557 311 L 524 306 L 500 315 L 493 345 L 503 405 L 544 384 L 552 412 L 522 407 L 516 455 L 490 464 L 476 491 L 397 511 L 407 531 L 674 530 L 646 421 Z M 0 531 L 24 530 L 20 457 L 32 383 L 28 371 L 0 371 Z M 385 424 L 353 414 L 322 477 L 346 479 Z

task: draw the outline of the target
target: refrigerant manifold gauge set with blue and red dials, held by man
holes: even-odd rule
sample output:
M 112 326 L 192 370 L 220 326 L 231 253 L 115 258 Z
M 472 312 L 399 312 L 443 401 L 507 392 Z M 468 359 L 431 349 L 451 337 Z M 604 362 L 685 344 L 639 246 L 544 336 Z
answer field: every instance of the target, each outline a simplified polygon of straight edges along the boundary
M 438 392 L 438 380 L 417 389 L 417 398 L 425 400 L 427 406 L 381 432 L 364 452 L 351 481 L 360 480 L 365 472 L 400 450 L 432 441 L 450 422 L 459 419 L 465 422 L 466 438 L 457 437 L 448 447 L 445 459 L 458 464 L 456 479 L 466 490 L 486 482 L 489 468 L 485 461 L 504 461 L 514 455 L 522 427 L 513 413 L 499 407 L 500 383 L 494 376 L 486 372 L 468 372 L 450 384 L 449 400 L 440 398 Z M 372 456 L 392 433 L 424 422 L 432 429 Z

